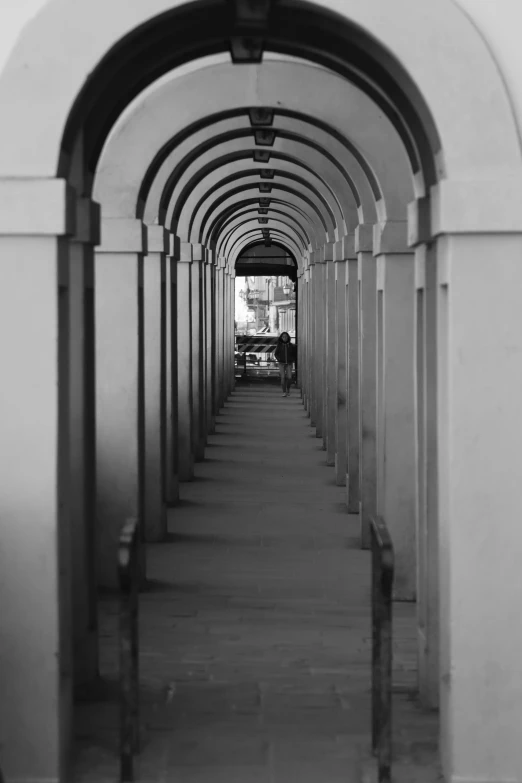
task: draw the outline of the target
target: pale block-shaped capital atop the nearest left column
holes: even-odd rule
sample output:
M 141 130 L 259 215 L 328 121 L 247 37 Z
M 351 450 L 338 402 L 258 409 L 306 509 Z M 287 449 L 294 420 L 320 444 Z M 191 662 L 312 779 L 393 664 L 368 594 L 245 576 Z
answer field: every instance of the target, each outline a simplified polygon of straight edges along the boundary
M 0 179 L 0 234 L 74 236 L 76 199 L 64 179 Z

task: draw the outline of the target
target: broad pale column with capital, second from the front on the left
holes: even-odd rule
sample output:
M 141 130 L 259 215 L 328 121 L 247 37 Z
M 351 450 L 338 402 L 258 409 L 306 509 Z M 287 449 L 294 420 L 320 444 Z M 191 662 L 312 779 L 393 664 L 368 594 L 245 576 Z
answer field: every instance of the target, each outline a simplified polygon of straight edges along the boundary
M 140 220 L 105 219 L 96 250 L 96 566 L 98 583 L 118 584 L 122 525 L 143 530 L 143 253 Z M 144 555 L 144 548 L 143 555 Z

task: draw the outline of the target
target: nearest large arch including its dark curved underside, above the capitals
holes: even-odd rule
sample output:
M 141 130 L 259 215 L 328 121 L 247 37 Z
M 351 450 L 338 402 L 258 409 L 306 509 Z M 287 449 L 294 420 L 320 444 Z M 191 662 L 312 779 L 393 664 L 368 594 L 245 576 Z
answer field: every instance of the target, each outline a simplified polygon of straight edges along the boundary
M 407 31 L 395 24 L 397 16 L 408 18 Z M 100 18 L 106 21 L 102 26 Z M 115 0 L 110 13 L 101 0 L 77 2 L 74 8 L 51 0 L 24 28 L 0 79 L 5 116 L 0 174 L 67 177 L 83 126 L 89 130 L 85 160 L 93 171 L 123 107 L 181 62 L 223 50 L 232 21 L 218 0 L 149 0 L 139 8 Z M 59 58 L 41 56 L 63 47 L 64 27 L 75 53 L 66 73 Z M 363 86 L 398 128 L 413 170 L 422 168 L 428 185 L 443 176 L 469 179 L 480 171 L 490 179 L 511 178 L 513 167 L 520 167 L 502 77 L 472 22 L 450 0 L 414 7 L 407 0 L 393 7 L 381 0 L 296 2 L 290 16 L 282 3 L 273 9 L 266 33 L 268 49 L 309 55 Z M 428 50 L 434 55 L 418 56 Z M 41 77 L 37 83 L 35 69 Z M 474 89 L 476 73 L 480 91 Z

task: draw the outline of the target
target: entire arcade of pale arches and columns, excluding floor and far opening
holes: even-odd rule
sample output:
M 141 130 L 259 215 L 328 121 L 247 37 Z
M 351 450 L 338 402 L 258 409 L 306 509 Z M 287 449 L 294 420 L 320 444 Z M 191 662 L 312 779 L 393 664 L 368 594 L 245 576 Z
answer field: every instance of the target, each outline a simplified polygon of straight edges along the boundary
M 522 152 L 487 37 L 457 0 L 33 3 L 0 72 L 9 783 L 69 781 L 125 521 L 141 587 L 177 557 L 256 247 L 346 531 L 363 557 L 382 517 L 416 601 L 445 779 L 522 783 Z

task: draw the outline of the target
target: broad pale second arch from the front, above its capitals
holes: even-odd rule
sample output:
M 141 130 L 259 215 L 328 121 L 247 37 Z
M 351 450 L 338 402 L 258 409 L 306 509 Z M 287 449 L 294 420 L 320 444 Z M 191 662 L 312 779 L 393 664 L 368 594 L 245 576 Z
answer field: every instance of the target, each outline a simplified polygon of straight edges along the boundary
M 270 105 L 274 97 L 280 103 L 279 98 L 284 98 L 285 107 L 290 108 L 285 108 L 281 115 L 276 108 L 275 127 L 282 123 L 285 129 L 290 129 L 292 123 L 295 125 L 308 121 L 302 113 L 304 96 L 296 92 L 296 85 L 299 84 L 306 84 L 309 89 L 306 98 L 311 113 L 324 116 L 321 128 L 317 129 L 315 124 L 310 124 L 311 130 L 325 135 L 323 126 L 328 127 L 334 148 L 337 145 L 336 154 L 353 180 L 359 198 L 366 193 L 368 200 L 365 203 L 371 201 L 373 204 L 377 196 L 382 200 L 384 192 L 388 199 L 389 216 L 397 219 L 397 210 L 394 212 L 393 209 L 396 200 L 402 219 L 404 204 L 412 197 L 412 180 L 411 173 L 408 174 L 407 157 L 393 126 L 360 90 L 335 74 L 313 65 L 281 62 L 267 62 L 263 68 L 242 66 L 241 69 L 234 69 L 230 65 L 205 67 L 179 78 L 173 76 L 172 82 L 162 84 L 157 89 L 151 88 L 151 92 L 135 104 L 136 120 L 133 120 L 134 112 L 127 113 L 108 140 L 97 171 L 96 198 L 102 202 L 111 201 L 114 204 L 111 210 L 117 210 L 119 216 L 128 217 L 136 214 L 136 204 L 140 214 L 143 201 L 152 199 L 152 207 L 147 209 L 152 210 L 149 211 L 149 218 L 154 220 L 160 213 L 158 207 L 156 215 L 152 214 L 156 210 L 156 199 L 160 198 L 159 192 L 162 192 L 164 183 L 172 173 L 173 160 L 177 159 L 176 149 L 173 150 L 176 139 L 180 139 L 177 145 L 180 155 L 183 149 L 192 149 L 193 146 L 185 123 L 189 127 L 195 125 L 197 138 L 198 134 L 205 135 L 201 129 L 203 117 L 212 112 L 211 116 L 216 118 L 214 130 L 221 134 L 230 127 L 232 120 L 236 126 L 242 121 L 245 123 L 243 130 L 250 134 L 244 137 L 242 144 L 246 155 L 255 147 L 252 129 L 249 125 L 247 127 L 249 120 L 246 106 Z M 228 85 L 225 93 L 224 85 Z M 253 90 L 253 85 L 256 85 L 257 92 Z M 330 95 L 332 89 L 335 89 L 335 101 L 326 101 L 324 97 L 321 101 L 317 100 L 317 97 Z M 228 94 L 230 97 L 227 97 Z M 217 95 L 220 97 L 221 112 L 217 111 Z M 170 107 L 178 101 L 183 104 L 184 112 L 179 117 L 173 117 Z M 231 118 L 229 114 L 232 111 L 239 112 L 239 118 Z M 226 119 L 222 119 L 223 113 Z M 149 128 L 147 118 L 151 116 L 154 117 L 154 126 Z M 369 127 L 372 128 L 371 133 Z M 204 128 L 208 135 L 208 125 Z M 346 129 L 350 131 L 350 140 L 345 140 L 348 147 L 339 141 L 345 137 Z M 334 137 L 337 137 L 337 141 Z M 252 138 L 252 144 L 248 144 L 249 138 Z M 238 154 L 237 148 L 236 143 L 229 154 Z M 384 149 L 389 152 L 387 165 L 382 161 Z M 132 155 L 129 155 L 130 150 Z M 281 154 L 278 153 L 277 138 L 275 147 L 270 151 L 274 155 Z M 167 158 L 164 159 L 164 156 Z M 209 158 L 212 160 L 213 156 Z M 198 165 L 201 165 L 201 160 Z M 145 174 L 149 168 L 155 173 Z M 365 185 L 368 175 L 370 182 Z M 114 181 L 111 182 L 111 179 Z M 143 183 L 151 188 L 149 195 Z M 378 186 L 376 183 L 379 183 Z M 372 196 L 369 196 L 368 190 Z M 172 204 L 176 202 L 177 198 L 171 201 Z M 385 216 L 385 213 L 381 214 L 382 218 Z M 369 213 L 367 217 L 371 219 L 372 216 Z M 169 214 L 167 224 L 170 219 Z M 163 222 L 161 215 L 160 221 Z

